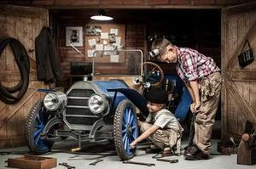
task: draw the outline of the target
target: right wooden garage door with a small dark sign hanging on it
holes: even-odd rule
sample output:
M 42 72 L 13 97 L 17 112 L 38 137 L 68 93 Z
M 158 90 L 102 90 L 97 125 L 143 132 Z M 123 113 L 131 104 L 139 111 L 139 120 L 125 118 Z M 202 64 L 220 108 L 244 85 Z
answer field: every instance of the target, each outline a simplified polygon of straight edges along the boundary
M 245 122 L 256 127 L 256 2 L 222 11 L 222 138 L 240 141 Z M 238 55 L 251 43 L 254 62 L 241 69 Z

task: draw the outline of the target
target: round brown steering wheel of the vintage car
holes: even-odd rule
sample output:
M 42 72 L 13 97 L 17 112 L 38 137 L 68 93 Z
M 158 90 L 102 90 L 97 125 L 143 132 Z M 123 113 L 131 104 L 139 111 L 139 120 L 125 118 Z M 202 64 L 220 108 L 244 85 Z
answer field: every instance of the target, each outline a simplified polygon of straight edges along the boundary
M 159 86 L 164 81 L 164 71 L 153 62 L 144 62 L 143 72 L 143 82 L 149 82 L 151 87 Z

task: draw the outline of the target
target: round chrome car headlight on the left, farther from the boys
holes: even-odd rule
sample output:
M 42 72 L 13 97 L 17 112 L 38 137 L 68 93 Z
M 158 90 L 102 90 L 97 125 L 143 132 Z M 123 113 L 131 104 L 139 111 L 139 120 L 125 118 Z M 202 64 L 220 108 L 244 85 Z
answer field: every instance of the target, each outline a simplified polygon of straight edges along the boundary
M 61 104 L 67 104 L 67 96 L 65 93 L 54 92 L 44 96 L 44 107 L 49 111 L 57 110 Z

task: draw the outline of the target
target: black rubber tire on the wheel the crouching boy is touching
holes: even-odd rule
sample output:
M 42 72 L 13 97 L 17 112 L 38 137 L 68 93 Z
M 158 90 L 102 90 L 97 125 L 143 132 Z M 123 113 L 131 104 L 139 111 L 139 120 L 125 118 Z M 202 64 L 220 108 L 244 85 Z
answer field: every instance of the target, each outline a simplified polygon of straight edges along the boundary
M 123 139 L 122 139 L 123 138 L 123 136 L 122 136 L 123 116 L 124 116 L 125 110 L 127 110 L 127 109 L 132 110 L 132 113 L 135 117 L 134 120 L 136 121 L 136 132 L 137 133 L 136 133 L 136 137 L 134 139 L 136 139 L 137 135 L 138 135 L 137 114 L 136 114 L 135 107 L 129 99 L 124 99 L 119 103 L 119 105 L 115 111 L 114 120 L 113 120 L 113 141 L 114 141 L 117 155 L 119 155 L 119 157 L 122 161 L 131 159 L 135 155 L 135 151 L 136 151 L 136 148 L 130 149 L 131 154 L 128 154 L 125 151 L 125 147 L 124 147 L 124 143 L 123 143 Z M 130 144 L 131 142 L 129 139 L 128 139 L 128 141 Z M 131 140 L 131 141 L 133 141 L 133 140 Z

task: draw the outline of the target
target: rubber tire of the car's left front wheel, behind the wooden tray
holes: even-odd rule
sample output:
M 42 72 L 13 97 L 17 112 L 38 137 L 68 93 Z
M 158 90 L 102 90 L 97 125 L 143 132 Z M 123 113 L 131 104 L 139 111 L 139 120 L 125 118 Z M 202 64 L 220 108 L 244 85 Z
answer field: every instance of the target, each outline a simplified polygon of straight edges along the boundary
M 53 144 L 47 143 L 44 140 L 42 141 L 42 145 L 44 146 L 43 149 L 40 149 L 38 147 L 38 144 L 36 144 L 36 141 L 33 137 L 33 133 L 37 131 L 37 129 L 34 127 L 37 124 L 37 116 L 40 113 L 40 111 L 44 108 L 43 101 L 38 101 L 32 106 L 32 109 L 28 113 L 28 116 L 26 118 L 26 125 L 25 125 L 25 138 L 26 138 L 26 144 L 28 148 L 30 149 L 32 154 L 35 155 L 42 155 L 44 153 L 49 152 L 49 150 L 52 148 Z M 43 112 L 44 113 L 44 112 Z M 45 115 L 45 114 L 44 114 Z M 46 116 L 46 118 L 48 118 Z M 46 123 L 46 122 L 45 122 Z M 44 124 L 45 125 L 45 124 Z

